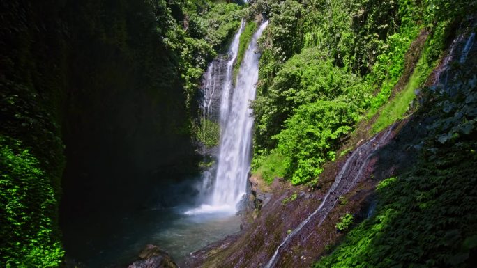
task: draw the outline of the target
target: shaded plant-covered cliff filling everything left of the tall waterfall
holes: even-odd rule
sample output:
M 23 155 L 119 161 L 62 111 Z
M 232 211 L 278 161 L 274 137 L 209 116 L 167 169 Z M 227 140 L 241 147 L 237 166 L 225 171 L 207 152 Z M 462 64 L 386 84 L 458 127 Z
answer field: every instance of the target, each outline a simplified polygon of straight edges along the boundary
M 0 10 L 0 266 L 57 267 L 59 200 L 65 221 L 79 221 L 77 207 L 134 206 L 143 182 L 160 180 L 144 174 L 197 171 L 197 88 L 243 12 L 206 0 Z

